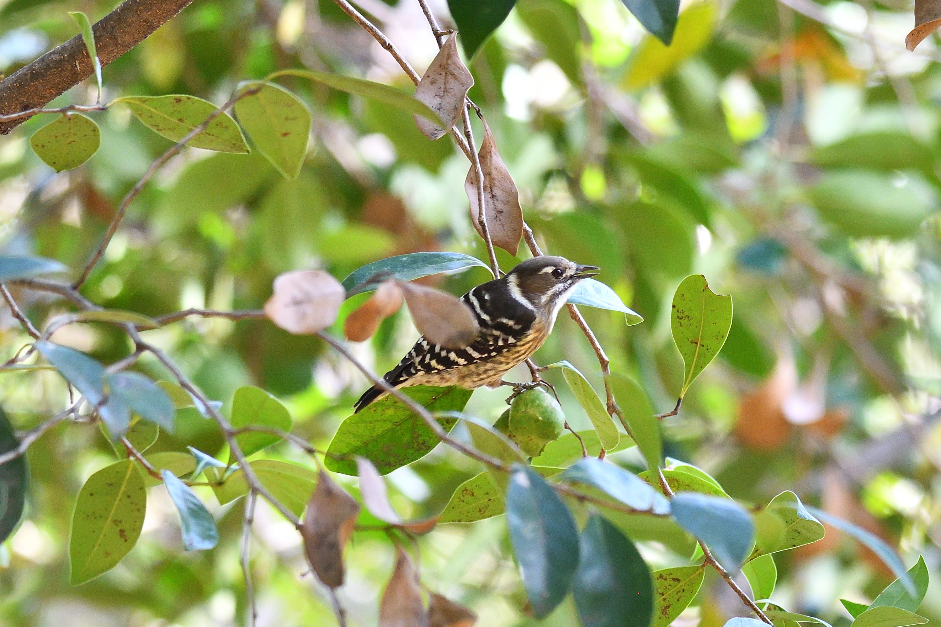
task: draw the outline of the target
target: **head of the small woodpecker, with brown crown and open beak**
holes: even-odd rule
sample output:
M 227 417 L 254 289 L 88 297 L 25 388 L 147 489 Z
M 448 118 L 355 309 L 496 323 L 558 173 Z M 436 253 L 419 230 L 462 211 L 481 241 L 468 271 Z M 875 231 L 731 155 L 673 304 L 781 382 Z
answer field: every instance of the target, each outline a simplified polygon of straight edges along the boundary
M 515 298 L 528 301 L 535 309 L 555 313 L 579 281 L 595 276 L 598 266 L 583 266 L 563 257 L 544 255 L 520 263 L 506 275 Z

